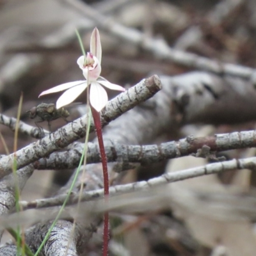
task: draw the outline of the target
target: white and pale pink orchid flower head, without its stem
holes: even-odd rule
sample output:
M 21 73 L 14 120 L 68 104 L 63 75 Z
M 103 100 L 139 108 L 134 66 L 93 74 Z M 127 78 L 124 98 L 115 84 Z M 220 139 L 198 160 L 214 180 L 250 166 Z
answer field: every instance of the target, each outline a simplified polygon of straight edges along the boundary
M 101 44 L 100 34 L 97 28 L 93 29 L 90 52 L 87 52 L 86 57 L 81 56 L 77 60 L 79 68 L 83 70 L 85 81 L 74 81 L 70 83 L 60 84 L 49 90 L 40 93 L 39 97 L 49 93 L 61 92 L 66 90 L 56 102 L 56 108 L 59 109 L 73 102 L 86 88 L 90 85 L 90 104 L 98 112 L 106 106 L 108 95 L 105 86 L 111 90 L 124 92 L 125 89 L 117 84 L 109 83 L 103 77 L 100 77 L 101 72 Z

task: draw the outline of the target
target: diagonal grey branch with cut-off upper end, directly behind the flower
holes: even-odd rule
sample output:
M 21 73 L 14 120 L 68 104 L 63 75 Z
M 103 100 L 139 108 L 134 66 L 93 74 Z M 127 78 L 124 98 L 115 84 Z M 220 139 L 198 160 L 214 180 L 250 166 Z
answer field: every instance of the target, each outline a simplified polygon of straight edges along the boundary
M 143 79 L 136 86 L 129 88 L 124 93 L 118 95 L 115 99 L 108 102 L 106 108 L 100 113 L 102 126 L 105 126 L 122 115 L 125 111 L 133 108 L 140 102 L 149 99 L 161 89 L 159 77 L 152 76 Z M 67 147 L 73 141 L 83 138 L 86 133 L 87 116 L 83 116 L 74 122 L 65 125 L 58 131 L 53 132 L 42 140 L 31 143 L 16 152 L 17 168 L 26 166 L 29 163 L 48 156 L 51 152 Z M 93 124 L 90 129 L 94 128 Z M 13 154 L 0 159 L 0 177 L 12 172 Z

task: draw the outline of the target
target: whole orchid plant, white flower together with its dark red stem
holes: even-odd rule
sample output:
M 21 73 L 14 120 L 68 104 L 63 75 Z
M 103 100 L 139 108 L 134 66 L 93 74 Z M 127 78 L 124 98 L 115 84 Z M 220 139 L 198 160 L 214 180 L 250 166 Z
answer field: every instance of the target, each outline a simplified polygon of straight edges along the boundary
M 108 102 L 108 95 L 102 86 L 121 92 L 124 92 L 125 89 L 117 84 L 109 83 L 109 81 L 103 77 L 100 77 L 101 52 L 100 34 L 99 30 L 95 28 L 93 29 L 91 36 L 90 52 L 87 52 L 86 56 L 81 56 L 77 60 L 77 64 L 79 65 L 79 68 L 83 70 L 83 75 L 86 80 L 60 84 L 42 92 L 39 97 L 45 94 L 66 90 L 56 102 L 56 108 L 58 109 L 73 102 L 88 87 L 88 90 L 90 90 L 90 107 L 92 109 L 93 120 L 99 141 L 100 156 L 102 160 L 104 195 L 109 195 L 108 162 L 104 150 L 102 126 L 100 123 L 99 113 L 106 106 Z M 108 212 L 106 212 L 104 214 L 103 255 L 108 255 L 108 218 Z

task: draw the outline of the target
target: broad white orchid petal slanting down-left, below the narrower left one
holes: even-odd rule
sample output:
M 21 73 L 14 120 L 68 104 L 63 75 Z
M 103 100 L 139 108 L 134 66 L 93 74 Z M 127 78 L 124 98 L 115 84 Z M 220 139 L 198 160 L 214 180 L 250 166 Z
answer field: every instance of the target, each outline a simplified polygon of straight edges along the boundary
M 61 97 L 56 102 L 56 108 L 59 109 L 67 104 L 73 102 L 87 87 L 87 83 L 78 84 L 66 92 L 64 92 Z

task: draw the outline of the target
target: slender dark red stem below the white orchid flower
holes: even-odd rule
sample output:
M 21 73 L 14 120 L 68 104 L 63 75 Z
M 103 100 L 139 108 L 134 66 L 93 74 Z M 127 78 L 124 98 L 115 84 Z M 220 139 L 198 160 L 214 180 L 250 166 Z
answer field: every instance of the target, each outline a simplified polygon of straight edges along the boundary
M 105 152 L 104 143 L 103 143 L 100 113 L 97 112 L 92 106 L 91 106 L 91 109 L 92 109 L 92 116 L 94 120 L 95 130 L 96 130 L 98 141 L 99 141 L 100 156 L 101 156 L 102 169 L 103 169 L 105 201 L 108 202 L 108 195 L 109 195 L 108 161 L 107 161 L 106 152 Z M 105 212 L 104 213 L 104 231 L 103 231 L 103 256 L 108 256 L 108 239 L 109 239 L 108 220 L 109 220 L 108 212 Z

